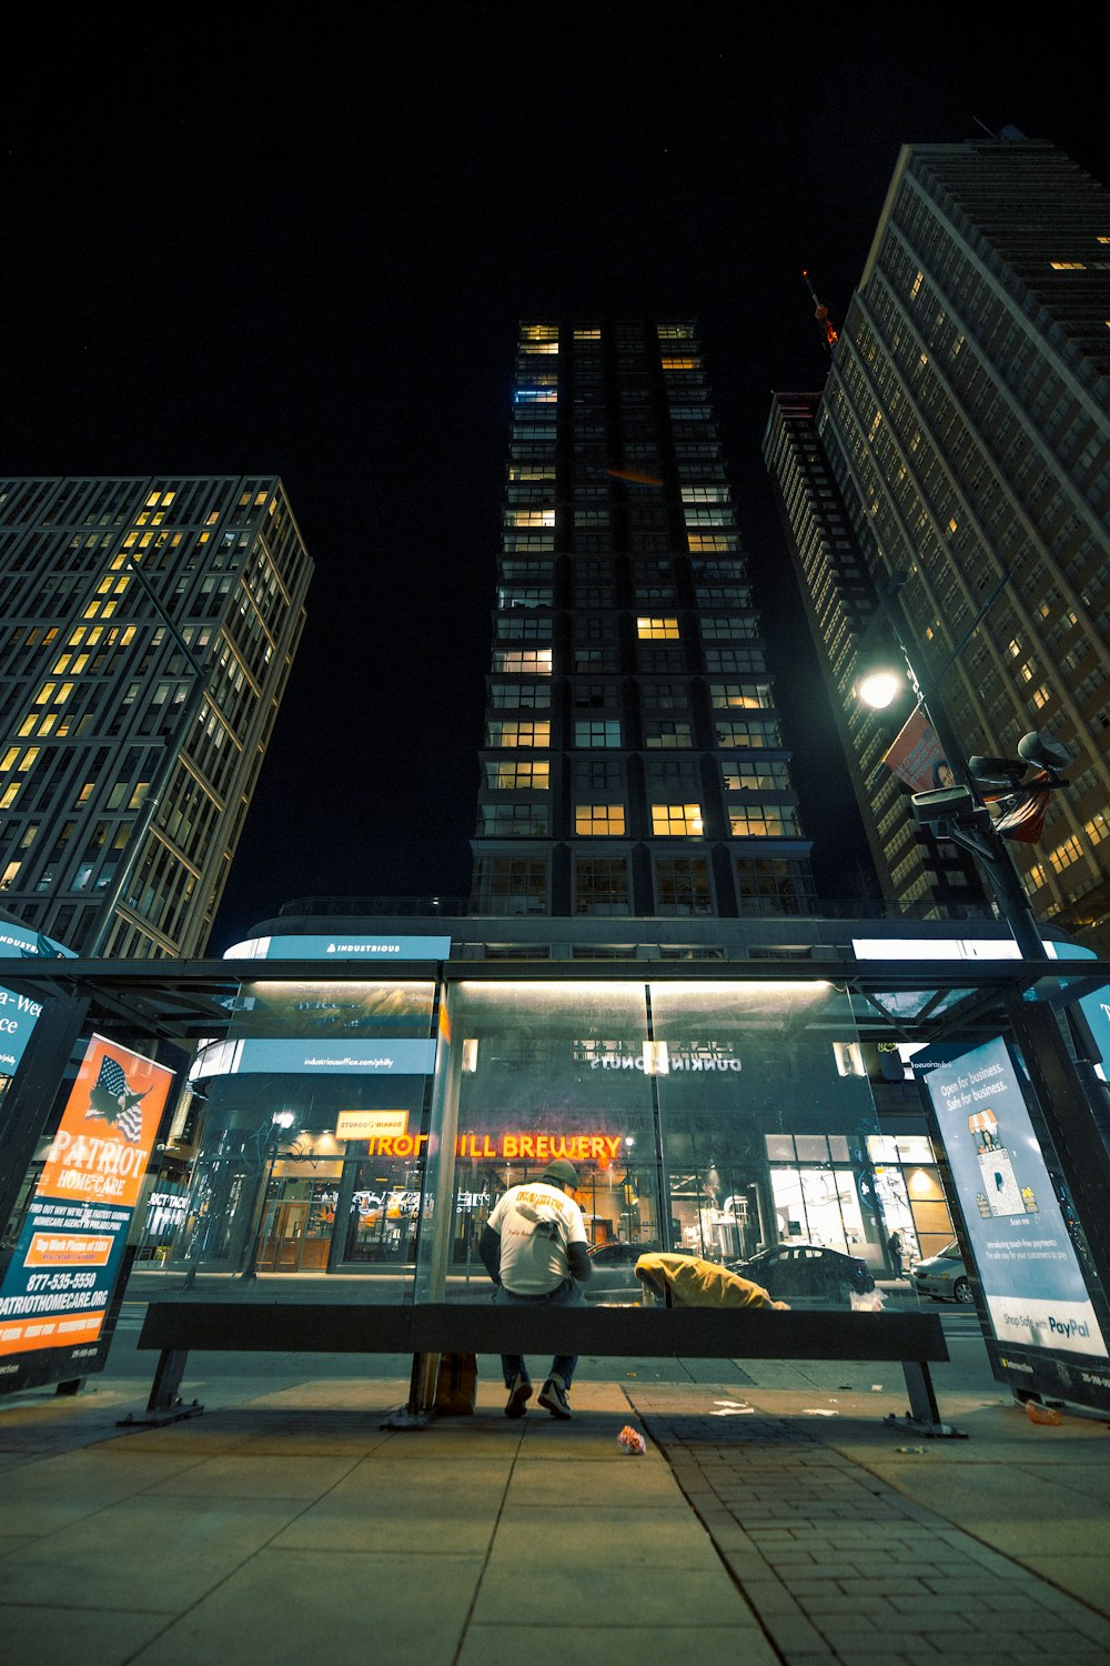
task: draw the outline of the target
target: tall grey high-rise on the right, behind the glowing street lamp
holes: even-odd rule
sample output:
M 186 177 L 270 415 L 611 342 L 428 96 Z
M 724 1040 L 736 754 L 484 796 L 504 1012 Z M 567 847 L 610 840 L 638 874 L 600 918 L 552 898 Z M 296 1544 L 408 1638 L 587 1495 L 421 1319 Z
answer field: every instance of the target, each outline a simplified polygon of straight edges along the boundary
M 827 385 L 776 400 L 764 450 L 887 890 L 925 911 L 960 891 L 882 763 L 892 728 L 849 713 L 869 616 L 897 591 L 965 755 L 1012 756 L 1030 730 L 1072 751 L 1040 841 L 1012 848 L 1037 913 L 1105 950 L 1110 193 L 1020 135 L 905 147 Z

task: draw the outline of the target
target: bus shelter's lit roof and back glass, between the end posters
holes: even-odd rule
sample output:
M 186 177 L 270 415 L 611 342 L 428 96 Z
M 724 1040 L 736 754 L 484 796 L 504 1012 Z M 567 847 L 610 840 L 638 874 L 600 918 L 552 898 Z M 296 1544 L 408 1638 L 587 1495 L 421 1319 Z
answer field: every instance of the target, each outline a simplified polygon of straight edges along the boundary
M 181 1078 L 205 1043 L 163 1138 L 195 1160 L 166 1271 L 358 1273 L 383 1301 L 486 1299 L 481 1225 L 553 1156 L 579 1168 L 596 1250 L 734 1261 L 797 1241 L 882 1274 L 897 1226 L 932 1253 L 952 1231 L 944 1153 L 922 1135 L 910 1060 L 1007 1035 L 1015 998 L 1110 981 L 1092 961 L 1045 976 L 832 953 L 13 973 L 40 1000 L 78 993 L 82 1028 L 156 1050 Z

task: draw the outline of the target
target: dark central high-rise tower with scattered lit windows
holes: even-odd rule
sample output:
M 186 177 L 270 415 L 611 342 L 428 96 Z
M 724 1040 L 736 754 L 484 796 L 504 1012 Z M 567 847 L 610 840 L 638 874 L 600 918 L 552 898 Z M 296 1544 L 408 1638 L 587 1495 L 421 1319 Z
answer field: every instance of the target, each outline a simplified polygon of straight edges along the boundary
M 814 908 L 696 327 L 521 327 L 484 915 Z

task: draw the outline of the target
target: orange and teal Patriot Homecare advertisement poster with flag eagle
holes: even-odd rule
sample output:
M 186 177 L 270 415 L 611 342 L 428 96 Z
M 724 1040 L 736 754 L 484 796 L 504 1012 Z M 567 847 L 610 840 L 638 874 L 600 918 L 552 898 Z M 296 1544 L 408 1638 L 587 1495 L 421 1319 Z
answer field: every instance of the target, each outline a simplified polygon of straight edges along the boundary
M 0 1391 L 103 1366 L 102 1333 L 173 1071 L 93 1036 L 0 1284 Z

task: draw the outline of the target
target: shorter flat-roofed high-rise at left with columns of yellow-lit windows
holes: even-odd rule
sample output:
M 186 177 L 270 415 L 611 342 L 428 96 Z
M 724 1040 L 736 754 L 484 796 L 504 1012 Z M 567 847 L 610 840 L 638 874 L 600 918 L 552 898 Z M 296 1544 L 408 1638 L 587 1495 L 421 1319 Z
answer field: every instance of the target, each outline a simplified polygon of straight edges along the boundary
M 310 578 L 273 476 L 0 480 L 0 913 L 205 950 Z

